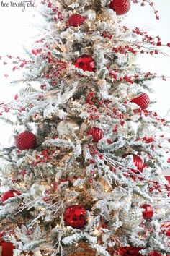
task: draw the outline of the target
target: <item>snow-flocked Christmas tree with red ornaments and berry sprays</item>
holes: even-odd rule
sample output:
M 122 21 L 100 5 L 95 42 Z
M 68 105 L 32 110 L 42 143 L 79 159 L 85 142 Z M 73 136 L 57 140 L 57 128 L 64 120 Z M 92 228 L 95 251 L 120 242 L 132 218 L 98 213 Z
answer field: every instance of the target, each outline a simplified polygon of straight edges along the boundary
M 25 88 L 1 112 L 15 127 L 1 148 L 1 255 L 170 255 L 168 123 L 148 110 L 157 75 L 133 64 L 161 39 L 122 26 L 129 0 L 38 7 L 43 36 L 14 67 Z

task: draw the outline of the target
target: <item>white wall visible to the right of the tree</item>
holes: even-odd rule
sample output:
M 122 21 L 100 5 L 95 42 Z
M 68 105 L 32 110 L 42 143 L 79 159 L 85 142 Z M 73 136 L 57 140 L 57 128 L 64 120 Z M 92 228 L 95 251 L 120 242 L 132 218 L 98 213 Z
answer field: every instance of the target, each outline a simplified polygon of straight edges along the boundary
M 151 7 L 140 7 L 138 4 L 132 4 L 130 12 L 128 12 L 125 24 L 130 27 L 139 27 L 144 31 L 148 31 L 153 37 L 159 35 L 162 43 L 170 42 L 170 1 L 169 0 L 154 0 L 154 6 L 158 10 L 160 20 L 156 20 Z M 170 48 L 164 48 L 170 56 Z M 155 57 L 140 54 L 138 59 L 141 67 L 146 71 L 156 72 L 157 74 L 165 74 L 170 76 L 170 57 L 159 55 Z M 155 94 L 153 99 L 157 101 L 153 107 L 161 116 L 166 115 L 166 111 L 170 108 L 170 80 L 166 82 L 161 79 L 153 80 L 152 87 Z M 170 116 L 167 117 L 170 120 Z

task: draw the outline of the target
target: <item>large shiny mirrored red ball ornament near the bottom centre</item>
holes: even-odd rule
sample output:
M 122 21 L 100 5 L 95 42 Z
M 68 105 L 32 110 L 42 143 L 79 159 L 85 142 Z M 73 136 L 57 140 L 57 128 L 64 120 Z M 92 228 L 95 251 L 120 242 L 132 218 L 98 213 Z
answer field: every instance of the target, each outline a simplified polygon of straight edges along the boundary
M 86 210 L 81 205 L 71 205 L 66 208 L 63 219 L 67 226 L 82 229 L 86 224 Z

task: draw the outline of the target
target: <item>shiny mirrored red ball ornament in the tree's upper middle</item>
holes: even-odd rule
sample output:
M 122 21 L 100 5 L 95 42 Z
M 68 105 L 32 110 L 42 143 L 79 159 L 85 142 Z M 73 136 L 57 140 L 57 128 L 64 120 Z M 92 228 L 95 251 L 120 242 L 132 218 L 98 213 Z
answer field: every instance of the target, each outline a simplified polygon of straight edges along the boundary
M 76 59 L 74 66 L 79 69 L 83 69 L 83 71 L 89 71 L 89 72 L 95 71 L 95 61 L 88 54 L 83 54 L 79 56 L 79 58 Z

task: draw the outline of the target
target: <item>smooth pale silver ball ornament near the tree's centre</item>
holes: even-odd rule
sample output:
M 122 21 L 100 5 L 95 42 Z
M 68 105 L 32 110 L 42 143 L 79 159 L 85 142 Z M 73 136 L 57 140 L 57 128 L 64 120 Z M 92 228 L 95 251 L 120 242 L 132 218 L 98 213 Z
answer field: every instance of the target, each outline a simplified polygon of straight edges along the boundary
M 69 125 L 73 129 L 76 135 L 79 133 L 79 130 L 80 130 L 79 124 L 77 124 L 76 121 L 73 121 L 72 119 L 66 119 L 61 121 L 58 124 L 58 127 L 57 127 L 58 135 L 68 134 L 68 129 L 66 127 L 67 125 Z

